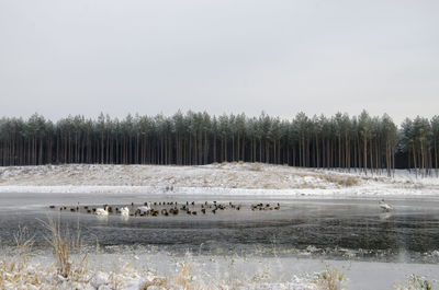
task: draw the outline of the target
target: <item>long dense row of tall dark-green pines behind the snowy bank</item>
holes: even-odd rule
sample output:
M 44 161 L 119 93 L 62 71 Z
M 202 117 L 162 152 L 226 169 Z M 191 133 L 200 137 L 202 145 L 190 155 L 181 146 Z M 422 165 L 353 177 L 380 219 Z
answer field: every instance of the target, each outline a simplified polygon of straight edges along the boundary
M 338 113 L 292 119 L 261 114 L 211 116 L 178 112 L 172 116 L 101 114 L 69 116 L 57 123 L 34 114 L 0 119 L 0 165 L 59 163 L 177 164 L 264 162 L 306 167 L 361 169 L 365 173 L 404 167 L 429 174 L 438 170 L 439 116 L 407 118 L 401 129 L 392 118 Z

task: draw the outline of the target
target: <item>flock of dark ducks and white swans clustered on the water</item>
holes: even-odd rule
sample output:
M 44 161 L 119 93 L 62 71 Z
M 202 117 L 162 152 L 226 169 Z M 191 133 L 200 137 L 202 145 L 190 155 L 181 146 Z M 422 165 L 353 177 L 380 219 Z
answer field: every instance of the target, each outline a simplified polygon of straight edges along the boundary
M 55 206 L 49 206 L 50 209 L 55 209 Z M 95 208 L 90 206 L 79 206 L 79 202 L 76 207 L 59 207 L 59 211 L 71 211 L 71 212 L 87 212 L 97 216 L 109 216 L 109 213 L 120 214 L 122 217 L 157 217 L 159 214 L 168 217 L 168 216 L 177 216 L 180 212 L 187 213 L 189 216 L 196 214 L 206 214 L 213 213 L 216 214 L 217 211 L 224 210 L 240 210 L 243 208 L 241 205 L 233 204 L 232 201 L 228 204 L 219 204 L 217 201 L 213 202 L 202 202 L 195 204 L 195 201 L 185 201 L 185 204 L 179 204 L 178 201 L 147 201 L 142 206 L 135 206 L 134 202 L 131 206 L 124 207 L 115 207 L 110 205 L 103 205 L 102 208 Z M 270 204 L 258 204 L 251 205 L 250 209 L 255 210 L 280 210 L 281 205 L 278 202 L 275 206 Z

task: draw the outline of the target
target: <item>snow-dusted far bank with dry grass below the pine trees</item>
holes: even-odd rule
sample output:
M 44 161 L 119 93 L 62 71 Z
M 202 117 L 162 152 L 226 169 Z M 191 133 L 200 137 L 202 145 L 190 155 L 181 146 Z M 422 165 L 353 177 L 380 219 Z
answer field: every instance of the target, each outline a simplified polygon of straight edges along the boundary
M 439 178 L 315 170 L 262 163 L 203 166 L 43 165 L 0 167 L 2 193 L 149 193 L 283 197 L 435 196 Z

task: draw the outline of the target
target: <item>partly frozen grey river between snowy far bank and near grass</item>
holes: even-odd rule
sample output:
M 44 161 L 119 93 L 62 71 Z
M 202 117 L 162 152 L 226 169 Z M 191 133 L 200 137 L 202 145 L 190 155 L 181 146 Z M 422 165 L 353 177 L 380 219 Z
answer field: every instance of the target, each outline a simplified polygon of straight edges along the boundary
M 351 289 L 356 289 L 356 283 L 362 285 L 361 289 L 389 289 L 383 287 L 390 285 L 389 277 L 401 281 L 415 272 L 434 280 L 439 278 L 439 199 L 393 198 L 386 201 L 395 210 L 383 212 L 378 198 L 258 198 L 179 197 L 178 194 L 0 194 L 0 240 L 2 246 L 12 246 L 13 233 L 19 227 L 26 227 L 34 235 L 34 245 L 47 248 L 44 236 L 48 232 L 42 221 L 52 218 L 74 234 L 79 225 L 81 241 L 90 246 L 98 242 L 104 255 L 124 250 L 135 253 L 137 250 L 137 253 L 149 253 L 150 259 L 151 255 L 172 253 L 172 256 L 183 257 L 191 253 L 193 265 L 204 265 L 203 259 L 212 257 L 229 259 L 257 255 L 258 262 L 248 264 L 248 268 L 243 266 L 243 272 L 254 272 L 251 265 L 259 265 L 260 259 L 264 259 L 274 268 L 282 267 L 283 275 L 316 270 L 322 268 L 319 260 L 325 259 L 344 268 L 350 265 L 347 271 Z M 200 205 L 214 200 L 223 205 L 232 201 L 240 205 L 241 209 L 218 210 L 216 214 L 207 210 L 202 214 Z M 110 214 L 102 219 L 83 209 L 85 206 L 102 207 L 103 204 L 131 207 L 132 202 L 135 204 L 132 209 L 135 209 L 145 201 L 178 201 L 180 205 L 194 201 L 195 206 L 190 208 L 198 214 L 180 211 L 169 217 L 122 219 Z M 59 207 L 76 207 L 78 202 L 80 212 L 59 212 Z M 259 202 L 270 206 L 280 202 L 281 209 L 252 211 L 251 205 Z M 55 209 L 49 209 L 50 205 Z M 162 263 L 148 263 L 156 268 L 166 268 Z M 364 270 L 370 278 L 363 275 Z M 370 283 L 371 288 L 364 287 L 368 279 L 376 280 Z

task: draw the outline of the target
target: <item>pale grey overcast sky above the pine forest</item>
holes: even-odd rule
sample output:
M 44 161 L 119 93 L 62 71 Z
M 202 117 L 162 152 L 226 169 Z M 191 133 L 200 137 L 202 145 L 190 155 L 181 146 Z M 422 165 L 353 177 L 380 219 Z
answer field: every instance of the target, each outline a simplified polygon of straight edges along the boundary
M 0 0 L 0 117 L 439 114 L 437 0 Z

